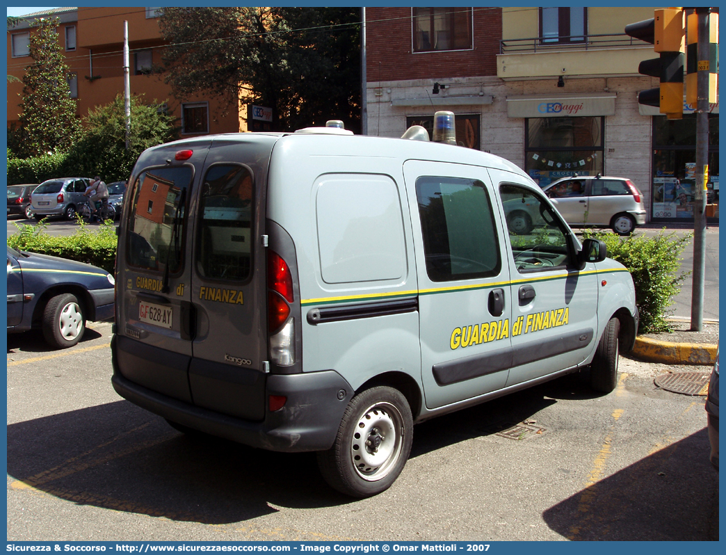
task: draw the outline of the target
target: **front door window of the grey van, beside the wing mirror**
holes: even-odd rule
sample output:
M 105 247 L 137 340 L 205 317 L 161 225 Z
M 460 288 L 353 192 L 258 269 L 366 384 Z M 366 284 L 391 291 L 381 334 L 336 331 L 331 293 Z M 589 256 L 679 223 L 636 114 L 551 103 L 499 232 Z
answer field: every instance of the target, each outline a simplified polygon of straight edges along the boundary
M 519 272 L 567 264 L 566 228 L 544 198 L 518 185 L 500 185 L 514 265 Z

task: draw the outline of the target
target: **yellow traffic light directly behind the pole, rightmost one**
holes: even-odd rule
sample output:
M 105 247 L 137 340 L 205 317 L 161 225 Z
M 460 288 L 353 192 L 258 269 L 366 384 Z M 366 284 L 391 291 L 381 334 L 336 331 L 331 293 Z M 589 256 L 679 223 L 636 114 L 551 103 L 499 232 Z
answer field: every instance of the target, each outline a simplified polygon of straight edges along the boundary
M 709 71 L 709 104 L 718 102 L 717 89 L 719 81 L 719 15 L 709 14 L 709 60 L 708 68 L 699 68 L 698 61 L 698 14 L 688 15 L 688 46 L 686 49 L 685 101 L 693 108 L 698 103 L 698 70 Z

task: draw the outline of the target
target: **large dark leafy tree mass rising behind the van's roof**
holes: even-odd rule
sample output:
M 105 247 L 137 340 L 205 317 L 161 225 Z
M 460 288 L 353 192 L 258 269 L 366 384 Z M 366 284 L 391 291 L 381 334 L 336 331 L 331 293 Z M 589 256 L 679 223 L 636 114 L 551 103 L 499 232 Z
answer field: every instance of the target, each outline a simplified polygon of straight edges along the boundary
M 276 127 L 341 119 L 360 130 L 357 8 L 165 8 L 163 65 L 177 98 L 205 94 L 275 109 Z

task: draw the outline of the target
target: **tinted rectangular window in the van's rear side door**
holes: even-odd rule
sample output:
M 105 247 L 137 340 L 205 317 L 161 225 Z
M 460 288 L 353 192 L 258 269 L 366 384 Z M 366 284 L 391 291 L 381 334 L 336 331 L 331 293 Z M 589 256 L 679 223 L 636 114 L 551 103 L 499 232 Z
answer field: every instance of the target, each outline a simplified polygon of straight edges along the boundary
M 419 177 L 426 271 L 432 281 L 485 278 L 499 274 L 499 240 L 492 201 L 484 183 L 457 177 Z

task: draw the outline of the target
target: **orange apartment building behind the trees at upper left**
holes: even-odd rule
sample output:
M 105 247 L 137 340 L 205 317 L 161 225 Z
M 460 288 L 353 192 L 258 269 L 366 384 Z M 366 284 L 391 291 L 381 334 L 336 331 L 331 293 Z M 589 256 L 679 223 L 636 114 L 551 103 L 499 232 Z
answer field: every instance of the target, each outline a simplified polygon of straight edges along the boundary
M 70 7 L 37 12 L 23 17 L 7 33 L 7 72 L 22 78 L 33 62 L 29 56 L 30 23 L 38 17 L 58 17 L 58 39 L 70 70 L 71 96 L 76 99 L 78 116 L 111 102 L 123 94 L 124 21 L 129 28 L 129 66 L 131 94 L 144 94 L 147 102 L 166 104 L 169 113 L 179 118 L 181 137 L 247 130 L 247 106 L 234 102 L 232 113 L 224 113 L 218 100 L 198 95 L 177 100 L 163 77 L 150 74 L 152 64 L 161 61 L 164 41 L 155 7 Z M 8 83 L 7 123 L 20 116 L 23 84 Z

